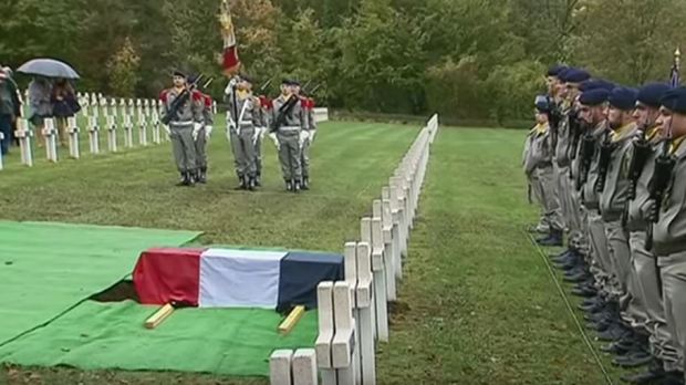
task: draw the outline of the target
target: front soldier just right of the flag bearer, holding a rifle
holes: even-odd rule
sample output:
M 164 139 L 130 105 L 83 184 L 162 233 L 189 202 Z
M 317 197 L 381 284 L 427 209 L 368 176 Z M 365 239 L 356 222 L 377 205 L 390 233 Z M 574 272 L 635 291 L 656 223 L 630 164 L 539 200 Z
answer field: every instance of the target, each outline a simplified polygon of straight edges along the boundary
M 302 132 L 308 131 L 304 111 L 294 89 L 299 83 L 284 80 L 281 95 L 273 101 L 271 132 L 279 142 L 279 163 L 285 189 L 298 192 L 302 186 Z M 306 135 L 306 134 L 304 134 Z

